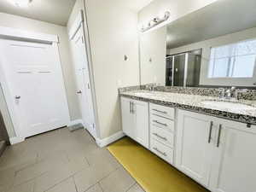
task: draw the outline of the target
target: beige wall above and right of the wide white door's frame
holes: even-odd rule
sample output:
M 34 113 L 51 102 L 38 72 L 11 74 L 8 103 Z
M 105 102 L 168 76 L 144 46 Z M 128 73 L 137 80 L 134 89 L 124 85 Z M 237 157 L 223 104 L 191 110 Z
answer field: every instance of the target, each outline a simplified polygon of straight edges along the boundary
M 40 33 L 48 33 L 55 34 L 59 36 L 60 44 L 60 55 L 61 55 L 61 67 L 63 71 L 66 92 L 67 92 L 67 102 L 70 111 L 71 119 L 79 118 L 79 110 L 78 110 L 78 101 L 75 94 L 74 87 L 74 78 L 73 78 L 73 68 L 71 64 L 71 58 L 68 49 L 68 41 L 67 41 L 67 28 L 65 26 L 57 26 L 54 24 L 46 23 L 38 20 L 31 20 L 25 17 L 8 15 L 0 13 L 0 26 L 14 27 L 21 30 L 32 31 L 32 32 L 40 32 Z M 0 100 L 3 101 L 3 96 L 0 94 Z M 2 108 L 1 108 L 2 107 Z M 1 111 L 6 113 L 7 110 L 4 108 L 4 105 L 0 105 Z M 3 114 L 6 118 L 8 115 Z M 9 119 L 7 120 L 9 122 Z M 7 129 L 11 130 L 11 125 L 7 127 Z M 9 131 L 11 134 L 9 137 L 14 137 L 13 131 Z

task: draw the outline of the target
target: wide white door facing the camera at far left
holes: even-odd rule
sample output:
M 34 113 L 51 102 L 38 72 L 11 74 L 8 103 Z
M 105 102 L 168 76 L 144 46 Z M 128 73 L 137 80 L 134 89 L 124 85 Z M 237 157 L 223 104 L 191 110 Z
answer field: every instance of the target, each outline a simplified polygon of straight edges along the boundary
M 0 65 L 20 137 L 67 125 L 67 98 L 56 43 L 1 39 Z

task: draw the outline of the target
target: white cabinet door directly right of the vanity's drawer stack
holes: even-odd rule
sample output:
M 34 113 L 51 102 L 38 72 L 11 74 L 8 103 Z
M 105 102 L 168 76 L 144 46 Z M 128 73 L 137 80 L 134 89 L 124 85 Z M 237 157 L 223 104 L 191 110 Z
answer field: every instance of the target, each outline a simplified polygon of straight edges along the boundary
M 215 130 L 211 117 L 199 113 L 178 110 L 176 166 L 179 170 L 208 186 Z

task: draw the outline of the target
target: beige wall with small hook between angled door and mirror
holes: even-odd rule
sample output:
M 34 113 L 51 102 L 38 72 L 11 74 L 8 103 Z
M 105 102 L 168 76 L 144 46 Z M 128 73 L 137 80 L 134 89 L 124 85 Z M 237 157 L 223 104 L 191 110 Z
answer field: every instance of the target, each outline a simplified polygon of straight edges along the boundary
M 105 138 L 121 131 L 118 88 L 139 84 L 137 13 L 114 0 L 85 0 L 85 7 L 100 135 Z

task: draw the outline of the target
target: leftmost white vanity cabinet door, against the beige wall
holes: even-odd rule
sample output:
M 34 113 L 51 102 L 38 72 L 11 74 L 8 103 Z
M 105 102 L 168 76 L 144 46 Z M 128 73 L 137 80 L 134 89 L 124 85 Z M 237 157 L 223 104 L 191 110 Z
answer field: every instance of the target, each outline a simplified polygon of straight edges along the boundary
M 131 111 L 131 99 L 121 97 L 122 126 L 124 133 L 131 137 L 135 137 L 135 116 Z

